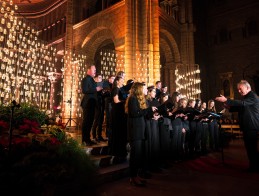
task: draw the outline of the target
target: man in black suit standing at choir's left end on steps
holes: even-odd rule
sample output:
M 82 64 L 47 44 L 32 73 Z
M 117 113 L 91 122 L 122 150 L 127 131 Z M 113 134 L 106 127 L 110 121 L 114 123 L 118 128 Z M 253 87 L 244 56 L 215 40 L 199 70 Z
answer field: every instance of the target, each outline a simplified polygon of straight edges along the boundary
M 88 146 L 96 144 L 90 139 L 90 132 L 94 122 L 95 111 L 97 110 L 97 91 L 101 91 L 102 87 L 97 86 L 94 81 L 96 74 L 95 65 L 87 67 L 87 75 L 81 81 L 81 88 L 84 97 L 81 102 L 83 109 L 83 122 L 82 122 L 82 143 Z

